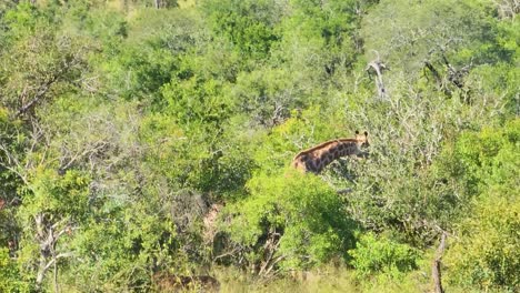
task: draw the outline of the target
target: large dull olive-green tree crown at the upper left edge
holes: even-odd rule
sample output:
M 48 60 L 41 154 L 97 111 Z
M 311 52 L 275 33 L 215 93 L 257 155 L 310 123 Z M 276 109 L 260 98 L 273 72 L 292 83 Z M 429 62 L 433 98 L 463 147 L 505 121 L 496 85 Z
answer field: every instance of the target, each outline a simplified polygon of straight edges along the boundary
M 88 70 L 89 42 L 58 32 L 59 23 L 46 13 L 49 10 L 21 3 L 3 19 L 10 46 L 0 52 L 0 94 L 2 104 L 18 117 L 33 113 L 57 95 L 74 92 Z

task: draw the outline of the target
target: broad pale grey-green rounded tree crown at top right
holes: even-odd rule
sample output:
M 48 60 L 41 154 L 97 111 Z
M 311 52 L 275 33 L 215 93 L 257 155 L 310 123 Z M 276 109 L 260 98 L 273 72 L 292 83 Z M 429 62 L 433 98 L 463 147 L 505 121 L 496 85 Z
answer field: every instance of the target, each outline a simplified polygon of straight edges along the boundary
M 486 54 L 500 52 L 490 48 L 494 23 L 476 1 L 381 1 L 364 21 L 367 48 L 410 74 L 424 61 L 442 62 L 442 54 L 451 59 L 459 51 L 457 62 L 483 63 L 493 59 Z

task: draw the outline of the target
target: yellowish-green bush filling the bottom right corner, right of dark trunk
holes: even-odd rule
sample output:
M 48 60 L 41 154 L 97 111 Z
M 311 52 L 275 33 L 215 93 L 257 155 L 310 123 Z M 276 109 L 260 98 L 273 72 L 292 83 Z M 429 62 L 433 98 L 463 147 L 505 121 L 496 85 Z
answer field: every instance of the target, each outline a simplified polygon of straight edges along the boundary
M 450 282 L 483 291 L 520 286 L 520 194 L 511 192 L 490 192 L 461 223 L 446 260 Z

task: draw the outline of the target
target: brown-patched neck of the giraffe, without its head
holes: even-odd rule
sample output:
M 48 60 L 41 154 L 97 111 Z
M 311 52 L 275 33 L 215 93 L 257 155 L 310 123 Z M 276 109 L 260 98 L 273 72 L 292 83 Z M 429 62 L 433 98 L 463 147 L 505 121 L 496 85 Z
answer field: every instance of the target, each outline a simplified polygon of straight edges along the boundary
M 299 153 L 293 161 L 293 166 L 303 171 L 319 173 L 334 160 L 359 154 L 359 146 L 356 140 L 336 140 L 326 142 L 309 151 Z

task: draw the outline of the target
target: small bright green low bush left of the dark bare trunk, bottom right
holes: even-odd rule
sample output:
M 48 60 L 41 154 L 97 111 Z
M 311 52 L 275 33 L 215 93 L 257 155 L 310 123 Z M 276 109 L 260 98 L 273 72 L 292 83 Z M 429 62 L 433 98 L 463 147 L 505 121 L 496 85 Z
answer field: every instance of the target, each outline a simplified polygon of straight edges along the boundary
M 420 255 L 410 245 L 372 233 L 362 234 L 356 249 L 350 250 L 349 254 L 360 277 L 383 273 L 397 279 L 417 269 L 416 262 Z

